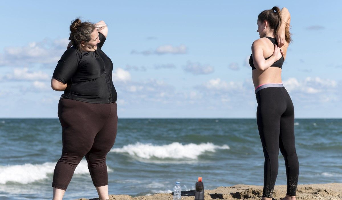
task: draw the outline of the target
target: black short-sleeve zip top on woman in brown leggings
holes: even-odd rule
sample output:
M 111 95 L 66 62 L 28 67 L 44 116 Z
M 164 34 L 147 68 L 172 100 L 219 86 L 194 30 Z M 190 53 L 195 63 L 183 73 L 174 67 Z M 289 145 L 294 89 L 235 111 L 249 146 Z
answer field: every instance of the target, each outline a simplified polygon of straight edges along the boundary
M 82 102 L 107 104 L 117 100 L 112 80 L 113 62 L 101 50 L 106 38 L 98 33 L 100 43 L 95 51 L 67 49 L 58 61 L 52 77 L 67 83 L 63 98 Z

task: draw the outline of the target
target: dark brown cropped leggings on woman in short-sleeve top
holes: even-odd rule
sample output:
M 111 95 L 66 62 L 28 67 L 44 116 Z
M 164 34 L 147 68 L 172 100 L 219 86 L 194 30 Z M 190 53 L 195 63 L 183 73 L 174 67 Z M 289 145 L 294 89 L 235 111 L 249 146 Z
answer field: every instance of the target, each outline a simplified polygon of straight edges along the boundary
M 53 173 L 52 187 L 66 190 L 83 156 L 86 156 L 94 186 L 108 185 L 106 155 L 116 138 L 116 111 L 116 103 L 60 99 L 58 117 L 62 125 L 63 149 Z

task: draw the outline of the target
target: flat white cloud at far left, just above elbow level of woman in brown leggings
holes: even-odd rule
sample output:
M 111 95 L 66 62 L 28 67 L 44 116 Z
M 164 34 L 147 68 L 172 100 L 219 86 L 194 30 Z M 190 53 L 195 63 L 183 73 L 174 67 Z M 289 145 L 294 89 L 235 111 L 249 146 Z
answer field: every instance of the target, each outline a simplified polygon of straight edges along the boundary
M 49 80 L 49 75 L 42 71 L 32 72 L 28 68 L 15 68 L 13 73 L 6 74 L 4 77 L 6 80 L 16 81 L 35 81 L 35 80 Z

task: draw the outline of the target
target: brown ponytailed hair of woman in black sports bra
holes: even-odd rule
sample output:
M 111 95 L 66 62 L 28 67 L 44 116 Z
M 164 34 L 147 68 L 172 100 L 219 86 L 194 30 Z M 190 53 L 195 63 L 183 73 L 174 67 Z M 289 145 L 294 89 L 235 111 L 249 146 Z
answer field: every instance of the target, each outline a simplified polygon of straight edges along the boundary
M 262 11 L 258 15 L 258 21 L 260 22 L 267 21 L 269 24 L 269 28 L 273 30 L 273 36 L 275 38 L 282 22 L 281 12 L 280 12 L 279 7 L 275 6 L 271 10 Z M 288 24 L 286 24 L 286 27 L 285 27 L 285 40 L 288 43 L 292 42 L 290 27 Z

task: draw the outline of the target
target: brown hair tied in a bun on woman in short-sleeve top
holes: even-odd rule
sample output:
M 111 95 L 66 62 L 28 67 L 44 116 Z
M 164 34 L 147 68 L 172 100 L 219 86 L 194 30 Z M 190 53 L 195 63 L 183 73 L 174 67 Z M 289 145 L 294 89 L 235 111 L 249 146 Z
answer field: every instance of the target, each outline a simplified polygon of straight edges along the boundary
M 91 22 L 81 22 L 79 18 L 71 21 L 69 40 L 71 40 L 71 43 L 73 43 L 77 50 L 81 51 L 81 42 L 89 42 L 91 40 L 91 34 L 96 26 Z

